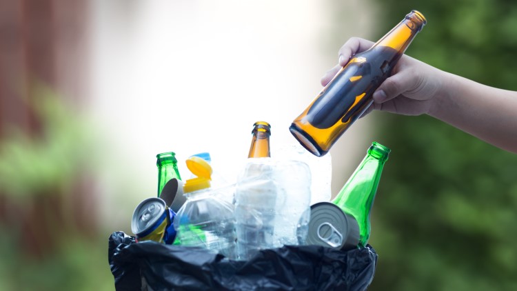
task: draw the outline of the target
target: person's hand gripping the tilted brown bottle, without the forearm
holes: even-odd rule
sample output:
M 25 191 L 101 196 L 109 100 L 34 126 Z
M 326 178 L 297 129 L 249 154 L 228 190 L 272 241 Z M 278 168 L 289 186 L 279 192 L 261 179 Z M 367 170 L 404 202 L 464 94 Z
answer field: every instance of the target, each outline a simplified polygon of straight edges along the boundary
M 354 54 L 371 48 L 373 44 L 372 41 L 358 37 L 349 39 L 339 50 L 338 64 L 323 76 L 321 84 L 327 86 Z M 374 92 L 374 103 L 365 114 L 374 109 L 403 115 L 428 113 L 433 106 L 434 97 L 443 88 L 444 77 L 440 72 L 442 71 L 403 54 L 393 68 L 392 75 Z

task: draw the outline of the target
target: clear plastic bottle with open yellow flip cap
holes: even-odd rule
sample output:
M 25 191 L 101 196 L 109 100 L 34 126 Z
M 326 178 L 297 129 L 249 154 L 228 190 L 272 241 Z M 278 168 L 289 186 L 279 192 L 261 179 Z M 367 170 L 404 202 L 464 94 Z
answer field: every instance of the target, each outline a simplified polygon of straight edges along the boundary
M 187 159 L 187 167 L 198 177 L 185 181 L 187 199 L 174 219 L 174 244 L 214 250 L 236 259 L 234 206 L 219 198 L 210 187 L 212 168 L 199 157 Z

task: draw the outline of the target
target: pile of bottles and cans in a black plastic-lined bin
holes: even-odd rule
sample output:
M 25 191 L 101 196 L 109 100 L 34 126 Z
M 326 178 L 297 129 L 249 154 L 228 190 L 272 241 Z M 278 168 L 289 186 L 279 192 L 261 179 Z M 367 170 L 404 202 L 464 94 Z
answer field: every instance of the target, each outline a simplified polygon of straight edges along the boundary
M 136 206 L 134 236 L 109 239 L 117 290 L 367 288 L 377 259 L 369 212 L 389 149 L 372 143 L 330 201 L 330 154 L 291 145 L 271 157 L 270 134 L 254 124 L 235 183 L 214 174 L 208 152 L 185 160 L 185 180 L 174 152 L 156 156 L 157 197 Z

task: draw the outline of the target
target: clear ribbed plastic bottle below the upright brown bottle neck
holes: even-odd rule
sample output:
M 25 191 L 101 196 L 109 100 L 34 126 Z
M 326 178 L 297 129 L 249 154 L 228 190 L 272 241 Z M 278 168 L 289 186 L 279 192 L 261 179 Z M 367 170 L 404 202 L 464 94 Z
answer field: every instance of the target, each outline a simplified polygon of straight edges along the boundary
M 306 163 L 268 157 L 248 159 L 235 193 L 238 259 L 251 259 L 259 250 L 305 241 L 310 194 Z

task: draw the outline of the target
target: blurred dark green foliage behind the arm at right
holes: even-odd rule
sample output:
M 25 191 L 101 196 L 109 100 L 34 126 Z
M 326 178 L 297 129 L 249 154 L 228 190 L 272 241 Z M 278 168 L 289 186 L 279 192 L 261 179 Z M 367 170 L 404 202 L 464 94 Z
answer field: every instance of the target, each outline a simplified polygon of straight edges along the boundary
M 419 10 L 427 26 L 407 54 L 517 90 L 516 1 L 374 3 L 372 40 Z M 369 290 L 517 290 L 517 155 L 432 117 L 373 116 L 392 154 L 372 210 L 379 259 Z

